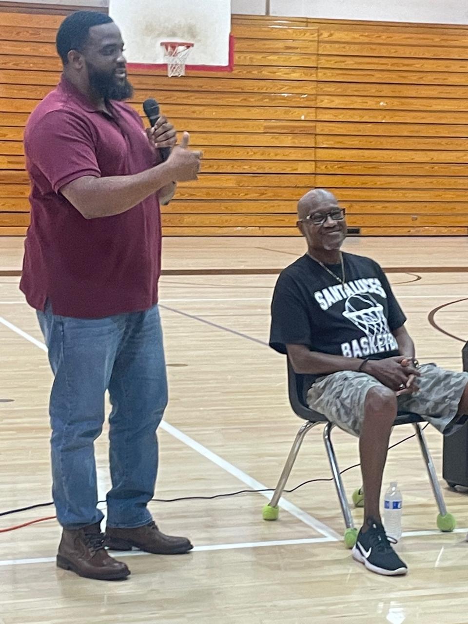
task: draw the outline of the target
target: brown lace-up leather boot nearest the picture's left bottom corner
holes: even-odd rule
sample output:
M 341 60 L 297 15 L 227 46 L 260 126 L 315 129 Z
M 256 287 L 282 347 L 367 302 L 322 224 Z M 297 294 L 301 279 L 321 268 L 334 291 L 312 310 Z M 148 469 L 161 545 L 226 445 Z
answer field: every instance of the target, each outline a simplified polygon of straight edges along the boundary
M 104 548 L 104 535 L 99 524 L 62 532 L 57 553 L 57 567 L 72 570 L 80 577 L 111 581 L 127 578 L 129 568 L 109 557 Z

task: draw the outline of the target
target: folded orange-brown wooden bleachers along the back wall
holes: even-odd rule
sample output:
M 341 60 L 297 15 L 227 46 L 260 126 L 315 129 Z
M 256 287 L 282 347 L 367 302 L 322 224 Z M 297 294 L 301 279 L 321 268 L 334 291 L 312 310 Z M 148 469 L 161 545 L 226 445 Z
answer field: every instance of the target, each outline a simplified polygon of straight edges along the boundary
M 0 3 L 0 235 L 29 222 L 22 131 L 59 80 L 62 19 Z M 130 76 L 140 114 L 156 97 L 205 155 L 166 236 L 295 235 L 311 187 L 361 235 L 468 233 L 468 28 L 233 16 L 233 34 L 232 73 Z

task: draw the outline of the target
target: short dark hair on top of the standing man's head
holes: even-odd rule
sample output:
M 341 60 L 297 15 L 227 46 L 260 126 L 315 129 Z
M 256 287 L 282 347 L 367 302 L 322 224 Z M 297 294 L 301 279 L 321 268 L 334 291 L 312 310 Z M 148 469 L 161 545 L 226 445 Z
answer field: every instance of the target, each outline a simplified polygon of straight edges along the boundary
M 64 65 L 68 63 L 71 50 L 81 52 L 89 37 L 89 29 L 100 24 L 110 24 L 114 20 L 99 11 L 76 11 L 62 22 L 57 32 L 57 52 Z

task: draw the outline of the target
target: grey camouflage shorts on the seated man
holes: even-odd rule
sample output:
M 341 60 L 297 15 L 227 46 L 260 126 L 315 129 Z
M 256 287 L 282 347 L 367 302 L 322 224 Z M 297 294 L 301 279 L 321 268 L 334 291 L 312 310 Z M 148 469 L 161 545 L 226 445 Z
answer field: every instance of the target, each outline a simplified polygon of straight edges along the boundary
M 457 410 L 468 373 L 446 371 L 436 364 L 422 364 L 419 370 L 419 392 L 399 396 L 398 411 L 420 414 L 442 433 L 454 431 L 461 424 Z M 344 431 L 359 436 L 366 395 L 371 388 L 382 385 L 366 373 L 340 371 L 319 378 L 308 391 L 307 402 Z

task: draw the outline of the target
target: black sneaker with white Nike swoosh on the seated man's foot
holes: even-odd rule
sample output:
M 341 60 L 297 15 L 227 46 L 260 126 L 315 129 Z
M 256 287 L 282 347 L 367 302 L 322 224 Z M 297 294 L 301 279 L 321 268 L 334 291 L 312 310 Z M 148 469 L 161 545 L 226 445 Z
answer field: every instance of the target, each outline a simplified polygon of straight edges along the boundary
M 406 574 L 406 563 L 398 557 L 393 550 L 392 544 L 397 540 L 387 537 L 383 525 L 373 518 L 367 520 L 368 530 L 359 531 L 358 540 L 353 548 L 353 557 L 356 561 L 364 563 L 368 570 L 388 577 L 398 574 Z

